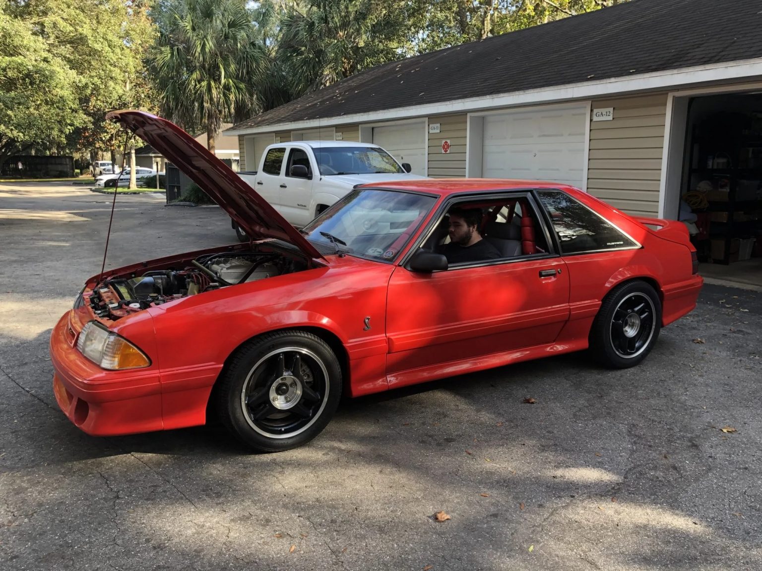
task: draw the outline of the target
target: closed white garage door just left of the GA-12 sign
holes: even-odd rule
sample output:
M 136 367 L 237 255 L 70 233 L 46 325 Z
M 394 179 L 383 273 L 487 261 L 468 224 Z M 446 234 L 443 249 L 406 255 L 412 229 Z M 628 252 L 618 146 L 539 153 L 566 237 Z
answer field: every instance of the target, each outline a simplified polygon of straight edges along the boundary
M 583 188 L 587 121 L 587 107 L 485 116 L 482 176 Z

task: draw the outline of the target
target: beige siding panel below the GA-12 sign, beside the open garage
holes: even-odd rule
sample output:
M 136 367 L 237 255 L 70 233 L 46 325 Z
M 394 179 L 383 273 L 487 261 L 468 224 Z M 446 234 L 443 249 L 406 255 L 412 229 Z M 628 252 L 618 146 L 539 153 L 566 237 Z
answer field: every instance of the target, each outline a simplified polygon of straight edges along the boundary
M 613 120 L 590 123 L 588 192 L 625 212 L 657 215 L 667 94 L 594 100 Z

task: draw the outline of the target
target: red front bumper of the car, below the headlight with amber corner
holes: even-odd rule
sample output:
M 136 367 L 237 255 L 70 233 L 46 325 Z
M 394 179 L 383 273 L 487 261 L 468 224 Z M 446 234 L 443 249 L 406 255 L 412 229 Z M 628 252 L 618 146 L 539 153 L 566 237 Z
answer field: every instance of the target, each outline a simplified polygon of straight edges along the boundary
M 106 371 L 82 356 L 69 314 L 50 335 L 53 392 L 69 420 L 93 436 L 162 430 L 158 368 Z

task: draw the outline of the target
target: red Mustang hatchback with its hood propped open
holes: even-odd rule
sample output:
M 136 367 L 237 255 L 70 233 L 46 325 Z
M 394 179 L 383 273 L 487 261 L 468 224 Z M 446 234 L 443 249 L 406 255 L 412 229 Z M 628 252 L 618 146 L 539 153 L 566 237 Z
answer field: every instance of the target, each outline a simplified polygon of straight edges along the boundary
M 197 426 L 213 413 L 251 448 L 281 451 L 319 434 L 342 392 L 588 347 L 629 367 L 695 307 L 703 283 L 682 223 L 632 218 L 563 184 L 366 185 L 297 231 L 177 126 L 109 117 L 252 241 L 88 279 L 50 351 L 56 400 L 91 435 Z M 453 208 L 479 212 L 492 257 L 448 266 Z

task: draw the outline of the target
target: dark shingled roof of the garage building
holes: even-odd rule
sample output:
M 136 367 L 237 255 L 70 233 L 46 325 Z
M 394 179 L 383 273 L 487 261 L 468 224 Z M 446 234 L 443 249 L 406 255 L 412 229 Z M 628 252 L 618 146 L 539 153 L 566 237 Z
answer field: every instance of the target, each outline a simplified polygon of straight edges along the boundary
M 377 65 L 232 129 L 762 57 L 760 0 L 631 0 Z

